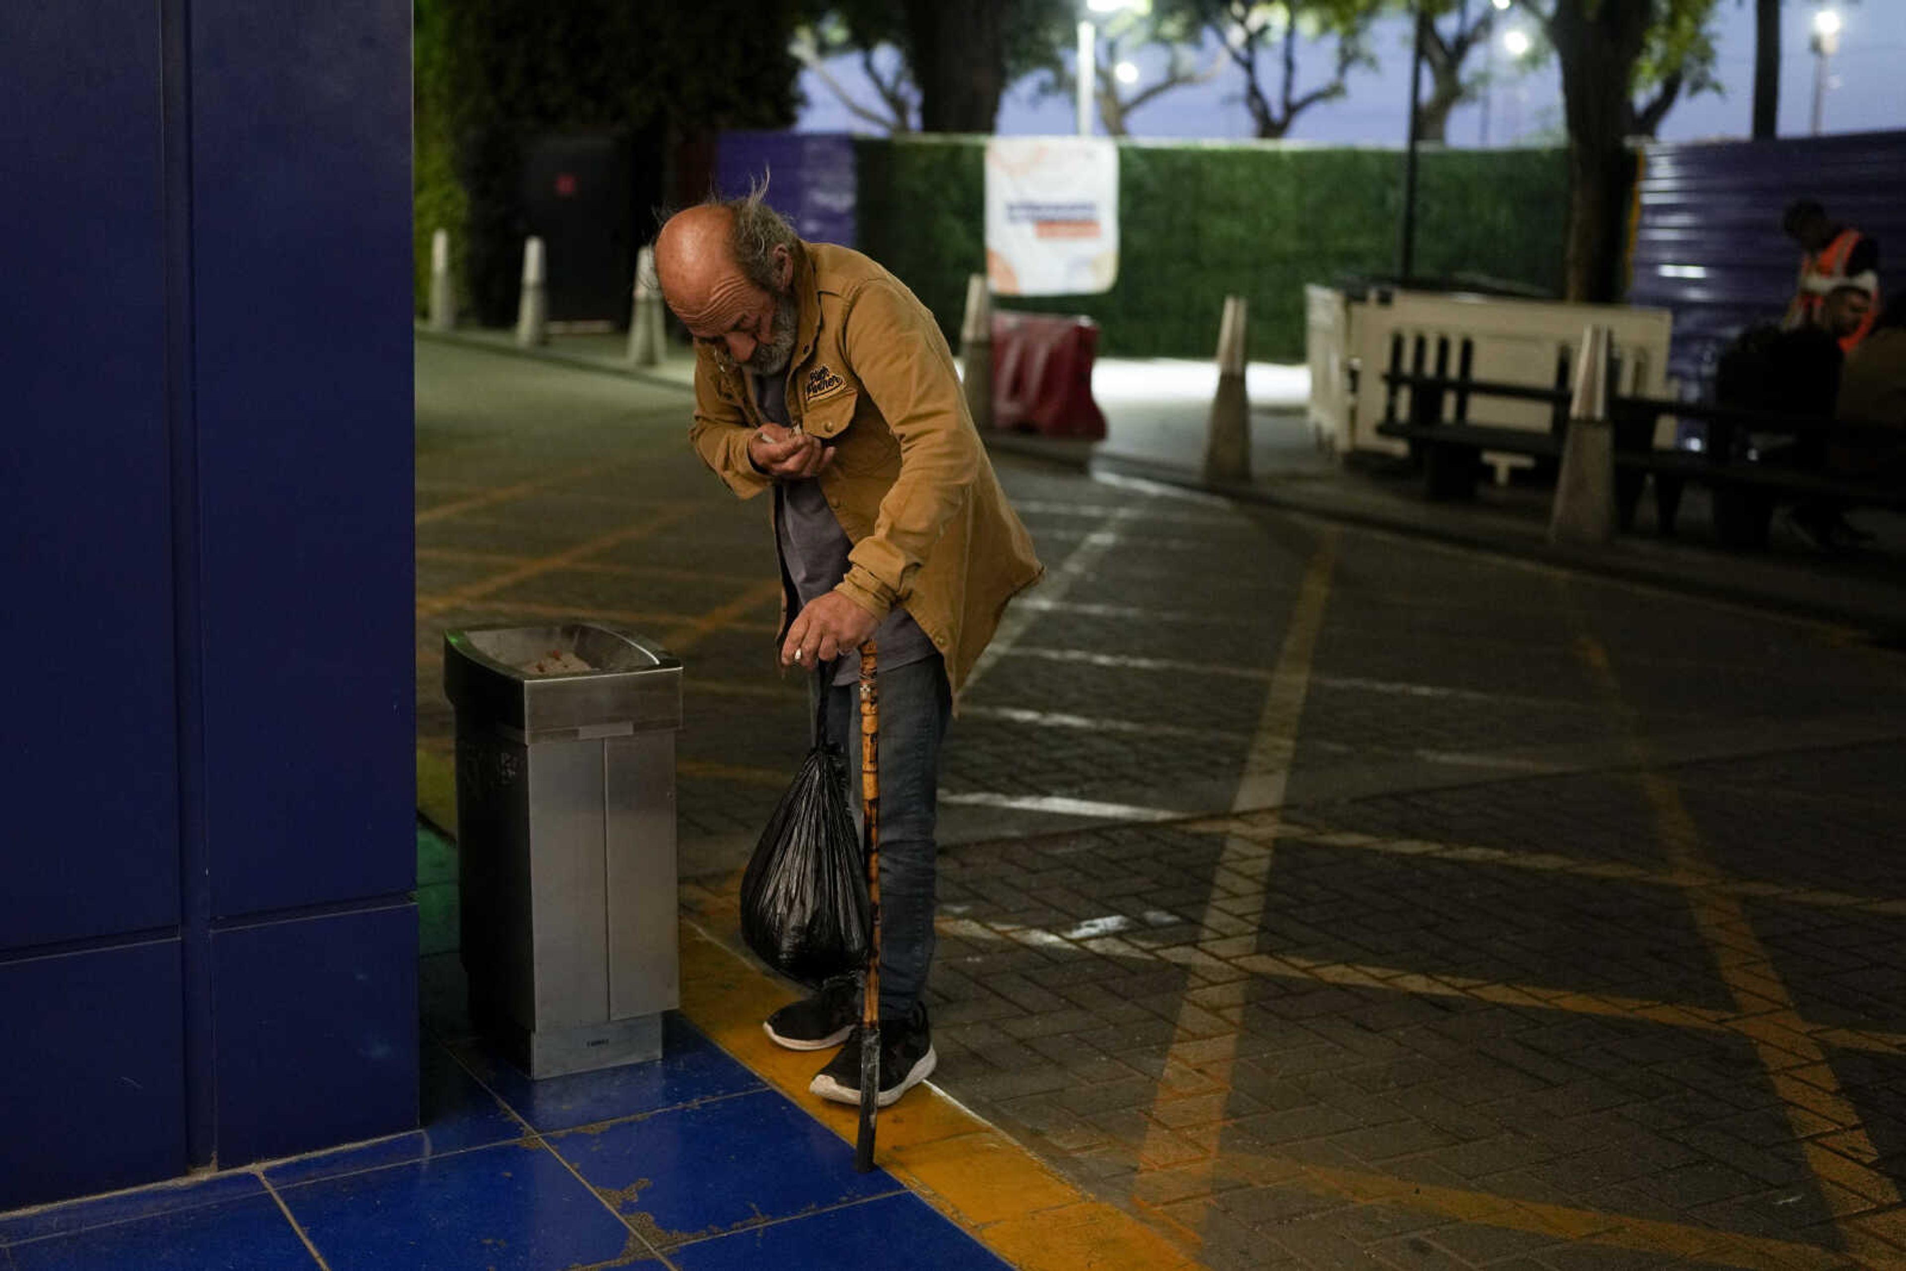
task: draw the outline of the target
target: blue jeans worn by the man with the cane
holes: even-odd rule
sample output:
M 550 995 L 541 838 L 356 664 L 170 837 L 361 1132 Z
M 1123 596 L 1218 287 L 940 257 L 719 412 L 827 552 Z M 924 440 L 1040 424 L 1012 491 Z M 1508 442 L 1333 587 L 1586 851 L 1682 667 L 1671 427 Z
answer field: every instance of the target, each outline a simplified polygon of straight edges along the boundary
M 882 667 L 879 675 L 881 1018 L 898 1019 L 921 1000 L 934 962 L 934 819 L 940 741 L 953 716 L 953 694 L 938 654 L 892 671 Z M 846 751 L 848 806 L 860 825 L 860 688 L 842 684 L 827 692 L 827 732 Z

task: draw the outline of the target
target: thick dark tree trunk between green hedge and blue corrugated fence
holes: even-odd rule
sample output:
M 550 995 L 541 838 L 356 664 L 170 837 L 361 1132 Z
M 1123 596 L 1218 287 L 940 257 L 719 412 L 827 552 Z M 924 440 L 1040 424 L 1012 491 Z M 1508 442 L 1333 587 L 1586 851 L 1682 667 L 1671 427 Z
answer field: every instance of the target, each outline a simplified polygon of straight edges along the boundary
M 1630 86 L 1653 17 L 1649 0 L 1557 0 L 1550 40 L 1561 61 L 1563 112 L 1569 118 L 1567 299 L 1620 299 L 1628 198 L 1635 160 L 1624 133 L 1633 103 Z

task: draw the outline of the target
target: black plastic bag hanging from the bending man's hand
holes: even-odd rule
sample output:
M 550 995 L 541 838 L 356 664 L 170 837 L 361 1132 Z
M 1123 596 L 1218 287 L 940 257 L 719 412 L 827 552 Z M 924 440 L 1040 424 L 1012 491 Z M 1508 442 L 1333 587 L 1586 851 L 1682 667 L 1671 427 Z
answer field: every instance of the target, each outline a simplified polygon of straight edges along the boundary
M 741 939 L 774 970 L 818 985 L 867 962 L 867 875 L 848 810 L 846 757 L 827 739 L 821 673 L 814 749 L 774 806 L 741 875 Z

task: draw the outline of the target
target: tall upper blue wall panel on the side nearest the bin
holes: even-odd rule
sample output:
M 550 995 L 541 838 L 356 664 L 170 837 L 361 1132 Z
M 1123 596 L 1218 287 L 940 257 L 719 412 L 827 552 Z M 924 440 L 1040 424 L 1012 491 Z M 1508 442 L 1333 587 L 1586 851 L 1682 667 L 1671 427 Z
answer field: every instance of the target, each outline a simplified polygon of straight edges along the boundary
M 206 827 L 225 918 L 416 878 L 410 6 L 191 13 Z

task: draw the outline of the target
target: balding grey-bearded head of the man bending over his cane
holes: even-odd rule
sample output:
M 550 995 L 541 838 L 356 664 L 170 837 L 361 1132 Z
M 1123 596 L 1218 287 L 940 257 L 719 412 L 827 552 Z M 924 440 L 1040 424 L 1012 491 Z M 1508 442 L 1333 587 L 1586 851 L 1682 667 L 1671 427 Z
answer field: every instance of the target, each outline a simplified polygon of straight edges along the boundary
M 677 212 L 656 236 L 661 299 L 698 343 L 724 347 L 757 373 L 785 370 L 799 242 L 759 196 Z

